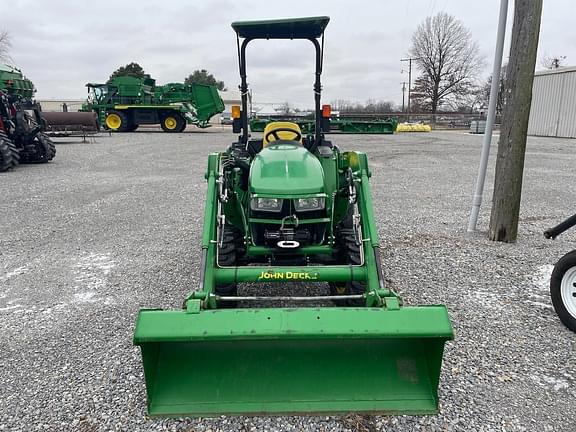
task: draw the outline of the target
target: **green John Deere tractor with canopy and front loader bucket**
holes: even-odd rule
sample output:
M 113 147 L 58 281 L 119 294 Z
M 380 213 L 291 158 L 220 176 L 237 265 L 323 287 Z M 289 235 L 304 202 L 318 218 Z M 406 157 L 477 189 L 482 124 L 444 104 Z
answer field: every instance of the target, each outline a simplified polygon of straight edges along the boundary
M 182 310 L 144 309 L 136 323 L 152 416 L 438 410 L 452 326 L 445 306 L 405 306 L 386 286 L 368 159 L 324 137 L 320 75 L 328 21 L 232 24 L 242 93 L 233 129 L 241 135 L 208 157 L 200 281 Z M 314 45 L 313 133 L 276 122 L 262 139 L 250 139 L 246 47 L 255 39 Z M 238 289 L 287 282 L 324 292 Z M 259 307 L 278 302 L 300 306 Z

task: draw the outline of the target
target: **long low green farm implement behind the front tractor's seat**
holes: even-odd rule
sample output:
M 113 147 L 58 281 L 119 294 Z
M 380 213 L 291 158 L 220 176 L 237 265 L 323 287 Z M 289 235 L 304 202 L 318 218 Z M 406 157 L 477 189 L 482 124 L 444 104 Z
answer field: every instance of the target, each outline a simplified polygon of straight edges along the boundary
M 274 121 L 291 121 L 296 123 L 303 133 L 310 133 L 314 130 L 314 119 L 296 116 L 264 116 L 250 119 L 250 130 L 252 132 L 264 132 L 266 125 Z M 362 116 L 346 117 L 338 116 L 330 118 L 330 130 L 328 132 L 341 132 L 346 134 L 393 134 L 398 121 L 394 118 L 369 118 Z

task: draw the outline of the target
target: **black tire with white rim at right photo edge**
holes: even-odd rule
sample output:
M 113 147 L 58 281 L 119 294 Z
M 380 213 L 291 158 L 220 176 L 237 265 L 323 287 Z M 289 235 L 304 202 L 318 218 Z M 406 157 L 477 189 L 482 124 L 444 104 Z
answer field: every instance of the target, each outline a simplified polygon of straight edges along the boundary
M 562 324 L 576 333 L 576 250 L 568 252 L 554 266 L 550 297 Z

